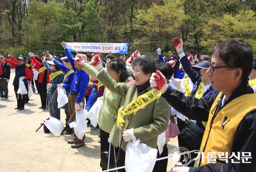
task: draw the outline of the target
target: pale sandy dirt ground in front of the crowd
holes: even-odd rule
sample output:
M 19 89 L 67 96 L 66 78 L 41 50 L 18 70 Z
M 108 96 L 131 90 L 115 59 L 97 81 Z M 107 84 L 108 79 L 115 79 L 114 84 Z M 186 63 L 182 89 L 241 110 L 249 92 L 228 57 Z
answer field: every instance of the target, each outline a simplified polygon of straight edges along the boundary
M 72 149 L 67 140 L 71 135 L 55 137 L 45 134 L 40 126 L 49 116 L 40 107 L 40 96 L 34 93 L 25 110 L 14 110 L 14 70 L 8 85 L 9 99 L 0 100 L 0 172 L 101 172 L 99 130 L 88 128 L 86 146 Z M 65 113 L 61 110 L 65 124 Z M 177 137 L 168 142 L 168 151 L 178 146 Z M 172 165 L 168 161 L 168 169 Z

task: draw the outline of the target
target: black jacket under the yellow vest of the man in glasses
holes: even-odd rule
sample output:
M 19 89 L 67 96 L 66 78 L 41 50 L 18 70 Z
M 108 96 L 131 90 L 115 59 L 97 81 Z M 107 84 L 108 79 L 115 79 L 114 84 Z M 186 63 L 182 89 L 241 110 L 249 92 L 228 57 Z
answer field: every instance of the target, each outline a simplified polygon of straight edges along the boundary
M 234 93 L 232 93 L 224 106 L 227 105 L 231 100 L 250 93 L 254 92 L 252 88 L 249 87 L 248 81 L 246 81 L 240 87 L 238 87 Z M 170 87 L 164 94 L 162 94 L 168 103 L 178 112 L 188 116 L 190 119 L 201 121 L 208 120 L 209 110 L 217 95 L 218 94 L 216 93 L 213 96 L 195 99 L 193 96 L 186 97 L 183 93 Z M 219 109 L 224 107 L 220 107 L 223 96 L 224 95 L 222 95 L 218 102 Z M 235 160 L 236 162 L 240 161 L 240 163 L 234 164 L 231 163 L 231 160 L 229 159 L 228 164 L 216 166 L 209 164 L 197 168 L 190 167 L 189 172 L 256 172 L 256 109 L 248 112 L 238 125 L 231 152 L 240 152 L 240 157 L 242 157 L 241 152 L 251 152 L 251 163 L 242 163 L 242 160 L 240 159 Z

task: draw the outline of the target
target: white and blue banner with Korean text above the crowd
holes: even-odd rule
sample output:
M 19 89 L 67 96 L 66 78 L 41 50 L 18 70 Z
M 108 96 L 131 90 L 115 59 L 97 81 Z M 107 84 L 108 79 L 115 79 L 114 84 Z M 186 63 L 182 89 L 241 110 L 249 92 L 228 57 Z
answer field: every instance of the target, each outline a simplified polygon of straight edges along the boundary
M 128 53 L 128 43 L 66 42 L 70 52 Z

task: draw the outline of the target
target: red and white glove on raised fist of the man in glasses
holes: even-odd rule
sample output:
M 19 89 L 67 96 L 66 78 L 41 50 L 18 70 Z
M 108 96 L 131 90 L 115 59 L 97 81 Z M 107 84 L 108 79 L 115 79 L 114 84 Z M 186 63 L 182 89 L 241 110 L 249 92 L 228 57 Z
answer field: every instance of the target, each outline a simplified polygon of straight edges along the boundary
M 152 73 L 149 82 L 153 89 L 160 91 L 161 93 L 165 93 L 168 88 L 166 79 L 159 70 L 157 70 L 156 73 Z

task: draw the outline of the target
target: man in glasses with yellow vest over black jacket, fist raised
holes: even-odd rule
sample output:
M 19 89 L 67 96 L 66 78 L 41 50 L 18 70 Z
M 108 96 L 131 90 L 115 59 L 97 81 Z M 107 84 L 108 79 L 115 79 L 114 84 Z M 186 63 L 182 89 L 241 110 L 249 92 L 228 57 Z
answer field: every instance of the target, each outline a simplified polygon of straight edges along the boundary
M 182 40 L 174 39 L 175 49 L 183 53 Z M 150 78 L 152 88 L 177 111 L 190 119 L 207 120 L 197 167 L 175 167 L 173 172 L 255 172 L 256 94 L 248 85 L 253 67 L 250 45 L 236 40 L 218 43 L 212 52 L 207 74 L 213 89 L 220 93 L 195 99 L 168 87 L 159 71 Z M 184 54 L 185 55 L 185 54 Z M 216 155 L 209 163 L 208 153 Z M 226 155 L 226 156 L 224 156 Z

